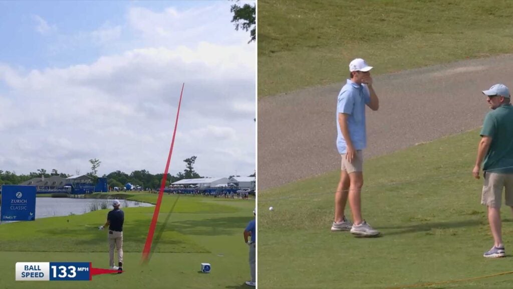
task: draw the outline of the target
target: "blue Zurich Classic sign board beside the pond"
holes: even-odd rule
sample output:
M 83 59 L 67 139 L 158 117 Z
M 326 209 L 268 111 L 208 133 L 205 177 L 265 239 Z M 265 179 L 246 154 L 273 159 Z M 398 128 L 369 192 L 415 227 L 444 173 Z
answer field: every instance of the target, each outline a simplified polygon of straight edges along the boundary
M 35 220 L 35 186 L 2 186 L 1 221 Z

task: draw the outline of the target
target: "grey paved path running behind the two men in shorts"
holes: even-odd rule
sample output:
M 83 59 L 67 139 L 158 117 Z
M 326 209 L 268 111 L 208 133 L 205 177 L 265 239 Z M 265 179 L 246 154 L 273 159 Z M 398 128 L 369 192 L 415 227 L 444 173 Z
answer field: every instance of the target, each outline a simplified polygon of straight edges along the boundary
M 345 68 L 341 67 L 342 78 Z M 380 109 L 366 111 L 365 159 L 479 128 L 489 110 L 481 91 L 495 83 L 513 89 L 513 55 L 412 69 L 373 80 Z M 259 190 L 340 168 L 335 116 L 342 81 L 259 100 Z

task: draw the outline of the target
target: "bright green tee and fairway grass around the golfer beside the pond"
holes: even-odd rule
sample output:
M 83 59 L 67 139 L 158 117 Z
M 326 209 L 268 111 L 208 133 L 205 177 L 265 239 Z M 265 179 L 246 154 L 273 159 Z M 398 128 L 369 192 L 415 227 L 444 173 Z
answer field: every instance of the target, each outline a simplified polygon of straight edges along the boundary
M 124 197 L 153 204 L 157 200 L 157 194 L 150 193 Z M 93 267 L 108 268 L 108 230 L 98 226 L 105 223 L 109 209 L 2 224 L 0 288 L 244 288 L 250 272 L 242 232 L 254 206 L 254 200 L 165 194 L 145 265 L 142 249 L 154 207 L 122 208 L 126 272 L 80 282 L 15 281 L 15 263 L 92 262 Z M 210 263 L 211 273 L 200 273 L 201 263 Z

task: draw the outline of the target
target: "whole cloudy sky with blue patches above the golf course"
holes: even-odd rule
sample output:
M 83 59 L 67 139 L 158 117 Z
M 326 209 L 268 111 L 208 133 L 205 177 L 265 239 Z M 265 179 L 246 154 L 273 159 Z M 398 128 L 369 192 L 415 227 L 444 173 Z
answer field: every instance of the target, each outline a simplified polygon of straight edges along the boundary
M 0 170 L 255 170 L 255 58 L 230 1 L 0 2 Z M 241 4 L 244 4 L 242 2 Z

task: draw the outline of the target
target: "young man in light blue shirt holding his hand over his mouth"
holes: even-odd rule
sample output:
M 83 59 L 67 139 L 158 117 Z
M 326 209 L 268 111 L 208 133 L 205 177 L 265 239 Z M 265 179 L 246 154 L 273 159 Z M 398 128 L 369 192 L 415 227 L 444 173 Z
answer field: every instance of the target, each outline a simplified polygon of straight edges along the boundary
M 361 58 L 349 63 L 349 79 L 337 100 L 337 149 L 342 157 L 340 181 L 335 193 L 335 218 L 332 231 L 349 231 L 362 237 L 377 236 L 362 218 L 360 192 L 363 186 L 363 149 L 367 146 L 365 105 L 379 109 L 379 99 L 372 87 L 372 66 Z M 349 198 L 353 223 L 344 209 Z

